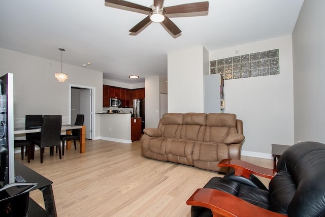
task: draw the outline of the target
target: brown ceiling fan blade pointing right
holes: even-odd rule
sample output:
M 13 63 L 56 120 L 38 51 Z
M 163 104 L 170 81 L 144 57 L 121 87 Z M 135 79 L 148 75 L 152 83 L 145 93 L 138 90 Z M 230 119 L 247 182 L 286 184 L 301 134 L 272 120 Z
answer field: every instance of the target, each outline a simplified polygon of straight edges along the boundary
M 193 12 L 203 12 L 208 10 L 209 10 L 209 2 L 188 3 L 184 5 L 165 7 L 166 14 L 193 13 Z

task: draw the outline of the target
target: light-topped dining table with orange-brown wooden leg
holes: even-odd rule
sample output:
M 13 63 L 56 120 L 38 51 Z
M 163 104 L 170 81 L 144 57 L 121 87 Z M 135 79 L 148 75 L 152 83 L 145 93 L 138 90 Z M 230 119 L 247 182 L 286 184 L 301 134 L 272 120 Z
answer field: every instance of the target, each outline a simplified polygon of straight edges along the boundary
M 80 129 L 80 153 L 86 152 L 86 126 L 84 125 L 62 125 L 61 131 L 65 130 L 66 134 L 71 135 L 72 130 Z M 39 133 L 42 130 L 42 126 L 28 127 L 26 128 L 14 128 L 14 135 L 26 134 L 26 133 Z M 71 149 L 71 141 L 67 141 L 67 149 Z

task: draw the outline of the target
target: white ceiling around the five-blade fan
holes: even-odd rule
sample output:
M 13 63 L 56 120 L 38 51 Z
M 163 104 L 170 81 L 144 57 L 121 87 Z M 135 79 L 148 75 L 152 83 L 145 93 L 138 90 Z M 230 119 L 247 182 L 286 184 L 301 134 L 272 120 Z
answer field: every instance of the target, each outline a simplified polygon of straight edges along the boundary
M 165 0 L 174 6 L 204 0 Z M 129 0 L 150 7 L 153 0 Z M 105 79 L 144 82 L 167 77 L 167 53 L 203 45 L 208 51 L 291 35 L 303 0 L 210 0 L 207 16 L 175 17 L 173 38 L 159 23 L 137 36 L 128 30 L 146 15 L 104 0 L 3 0 L 0 47 L 103 72 Z M 63 68 L 64 72 L 64 68 Z M 69 72 L 66 72 L 69 74 Z M 142 79 L 131 80 L 136 74 Z

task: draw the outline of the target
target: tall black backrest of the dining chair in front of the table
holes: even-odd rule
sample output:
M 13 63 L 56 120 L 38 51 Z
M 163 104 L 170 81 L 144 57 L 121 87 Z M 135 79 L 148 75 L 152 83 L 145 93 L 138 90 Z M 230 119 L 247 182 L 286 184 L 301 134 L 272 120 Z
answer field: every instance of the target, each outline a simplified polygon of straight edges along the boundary
M 61 115 L 44 115 L 40 147 L 60 145 Z

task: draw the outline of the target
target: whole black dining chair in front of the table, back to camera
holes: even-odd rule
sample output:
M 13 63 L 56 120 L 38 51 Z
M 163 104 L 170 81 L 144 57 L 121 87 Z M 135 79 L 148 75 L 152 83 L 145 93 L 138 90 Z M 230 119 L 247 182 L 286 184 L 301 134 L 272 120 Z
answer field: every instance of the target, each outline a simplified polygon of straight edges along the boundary
M 32 140 L 41 148 L 41 164 L 43 163 L 44 148 L 50 147 L 50 156 L 54 155 L 54 146 L 59 148 L 59 157 L 61 158 L 60 135 L 61 135 L 61 115 L 44 115 L 41 129 L 41 138 Z

